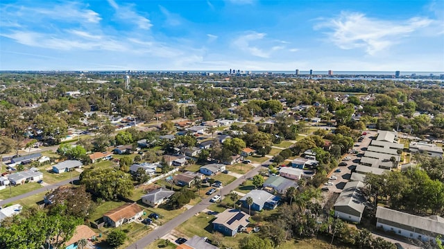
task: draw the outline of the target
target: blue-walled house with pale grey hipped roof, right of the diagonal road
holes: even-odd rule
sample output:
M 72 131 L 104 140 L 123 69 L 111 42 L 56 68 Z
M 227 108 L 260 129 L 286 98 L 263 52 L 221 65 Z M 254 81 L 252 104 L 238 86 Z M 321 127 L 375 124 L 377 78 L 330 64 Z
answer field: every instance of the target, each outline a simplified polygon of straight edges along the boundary
M 248 197 L 253 198 L 251 209 L 255 211 L 261 211 L 262 209 L 275 209 L 278 207 L 280 202 L 279 196 L 270 194 L 265 190 L 253 189 L 240 199 L 242 207 L 249 208 L 248 204 L 246 203 L 246 199 Z

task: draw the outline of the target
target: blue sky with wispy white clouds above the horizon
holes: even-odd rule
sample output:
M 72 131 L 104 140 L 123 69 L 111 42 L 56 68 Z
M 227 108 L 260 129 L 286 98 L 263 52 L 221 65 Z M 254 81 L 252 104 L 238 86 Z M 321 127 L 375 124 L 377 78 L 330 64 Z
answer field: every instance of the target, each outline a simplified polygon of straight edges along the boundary
M 0 70 L 444 71 L 444 1 L 8 1 Z

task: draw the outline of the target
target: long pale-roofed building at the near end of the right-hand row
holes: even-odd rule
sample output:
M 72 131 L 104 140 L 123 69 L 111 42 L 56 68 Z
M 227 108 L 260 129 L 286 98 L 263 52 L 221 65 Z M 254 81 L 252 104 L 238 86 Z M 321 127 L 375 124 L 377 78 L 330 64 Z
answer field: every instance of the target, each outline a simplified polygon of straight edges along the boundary
M 346 221 L 360 223 L 367 204 L 361 189 L 363 182 L 347 182 L 336 203 L 334 203 L 334 216 Z

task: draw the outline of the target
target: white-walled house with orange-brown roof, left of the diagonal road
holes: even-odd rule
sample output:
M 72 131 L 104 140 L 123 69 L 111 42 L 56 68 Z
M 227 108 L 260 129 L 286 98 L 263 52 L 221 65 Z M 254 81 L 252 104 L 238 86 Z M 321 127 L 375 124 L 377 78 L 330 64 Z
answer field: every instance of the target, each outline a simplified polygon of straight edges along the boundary
M 110 227 L 119 227 L 124 223 L 132 223 L 143 214 L 144 210 L 137 203 L 126 203 L 103 214 L 103 221 Z

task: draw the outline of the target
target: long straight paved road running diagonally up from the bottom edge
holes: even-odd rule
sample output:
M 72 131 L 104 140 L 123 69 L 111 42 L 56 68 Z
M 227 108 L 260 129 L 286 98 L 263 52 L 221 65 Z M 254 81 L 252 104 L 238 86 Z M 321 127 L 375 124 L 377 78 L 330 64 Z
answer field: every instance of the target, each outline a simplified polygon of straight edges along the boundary
M 267 160 L 266 162 L 264 162 L 262 164 L 271 164 L 271 162 L 269 162 Z M 230 193 L 230 191 L 239 187 L 239 185 L 242 182 L 244 182 L 244 180 L 246 180 L 246 178 L 251 178 L 251 177 L 257 175 L 257 173 L 259 172 L 259 170 L 261 168 L 262 168 L 262 166 L 257 166 L 257 167 L 255 167 L 255 169 L 248 171 L 248 173 L 246 173 L 244 175 L 244 177 L 237 178 L 237 180 L 234 180 L 234 182 L 231 182 L 227 186 L 223 187 L 221 190 L 223 196 L 225 196 L 226 194 Z M 214 193 L 212 196 L 214 196 L 216 194 L 221 194 L 221 191 L 216 191 L 216 193 Z M 146 246 L 153 243 L 156 239 L 164 237 L 165 234 L 168 234 L 171 230 L 176 228 L 178 225 L 184 223 L 185 221 L 187 221 L 189 218 L 191 218 L 192 216 L 194 216 L 198 212 L 202 212 L 203 209 L 210 206 L 212 204 L 212 203 L 210 203 L 210 199 L 212 198 L 212 196 L 205 198 L 200 203 L 198 203 L 197 205 L 194 205 L 194 207 L 191 207 L 190 209 L 183 212 L 182 214 L 180 214 L 176 218 L 173 218 L 171 221 L 165 223 L 164 225 L 157 227 L 156 230 L 154 230 L 153 232 L 150 232 L 149 234 L 146 234 L 145 237 L 143 237 L 142 239 L 139 239 L 138 241 L 136 241 L 132 245 L 128 246 L 127 248 L 130 248 L 130 249 L 146 248 Z

